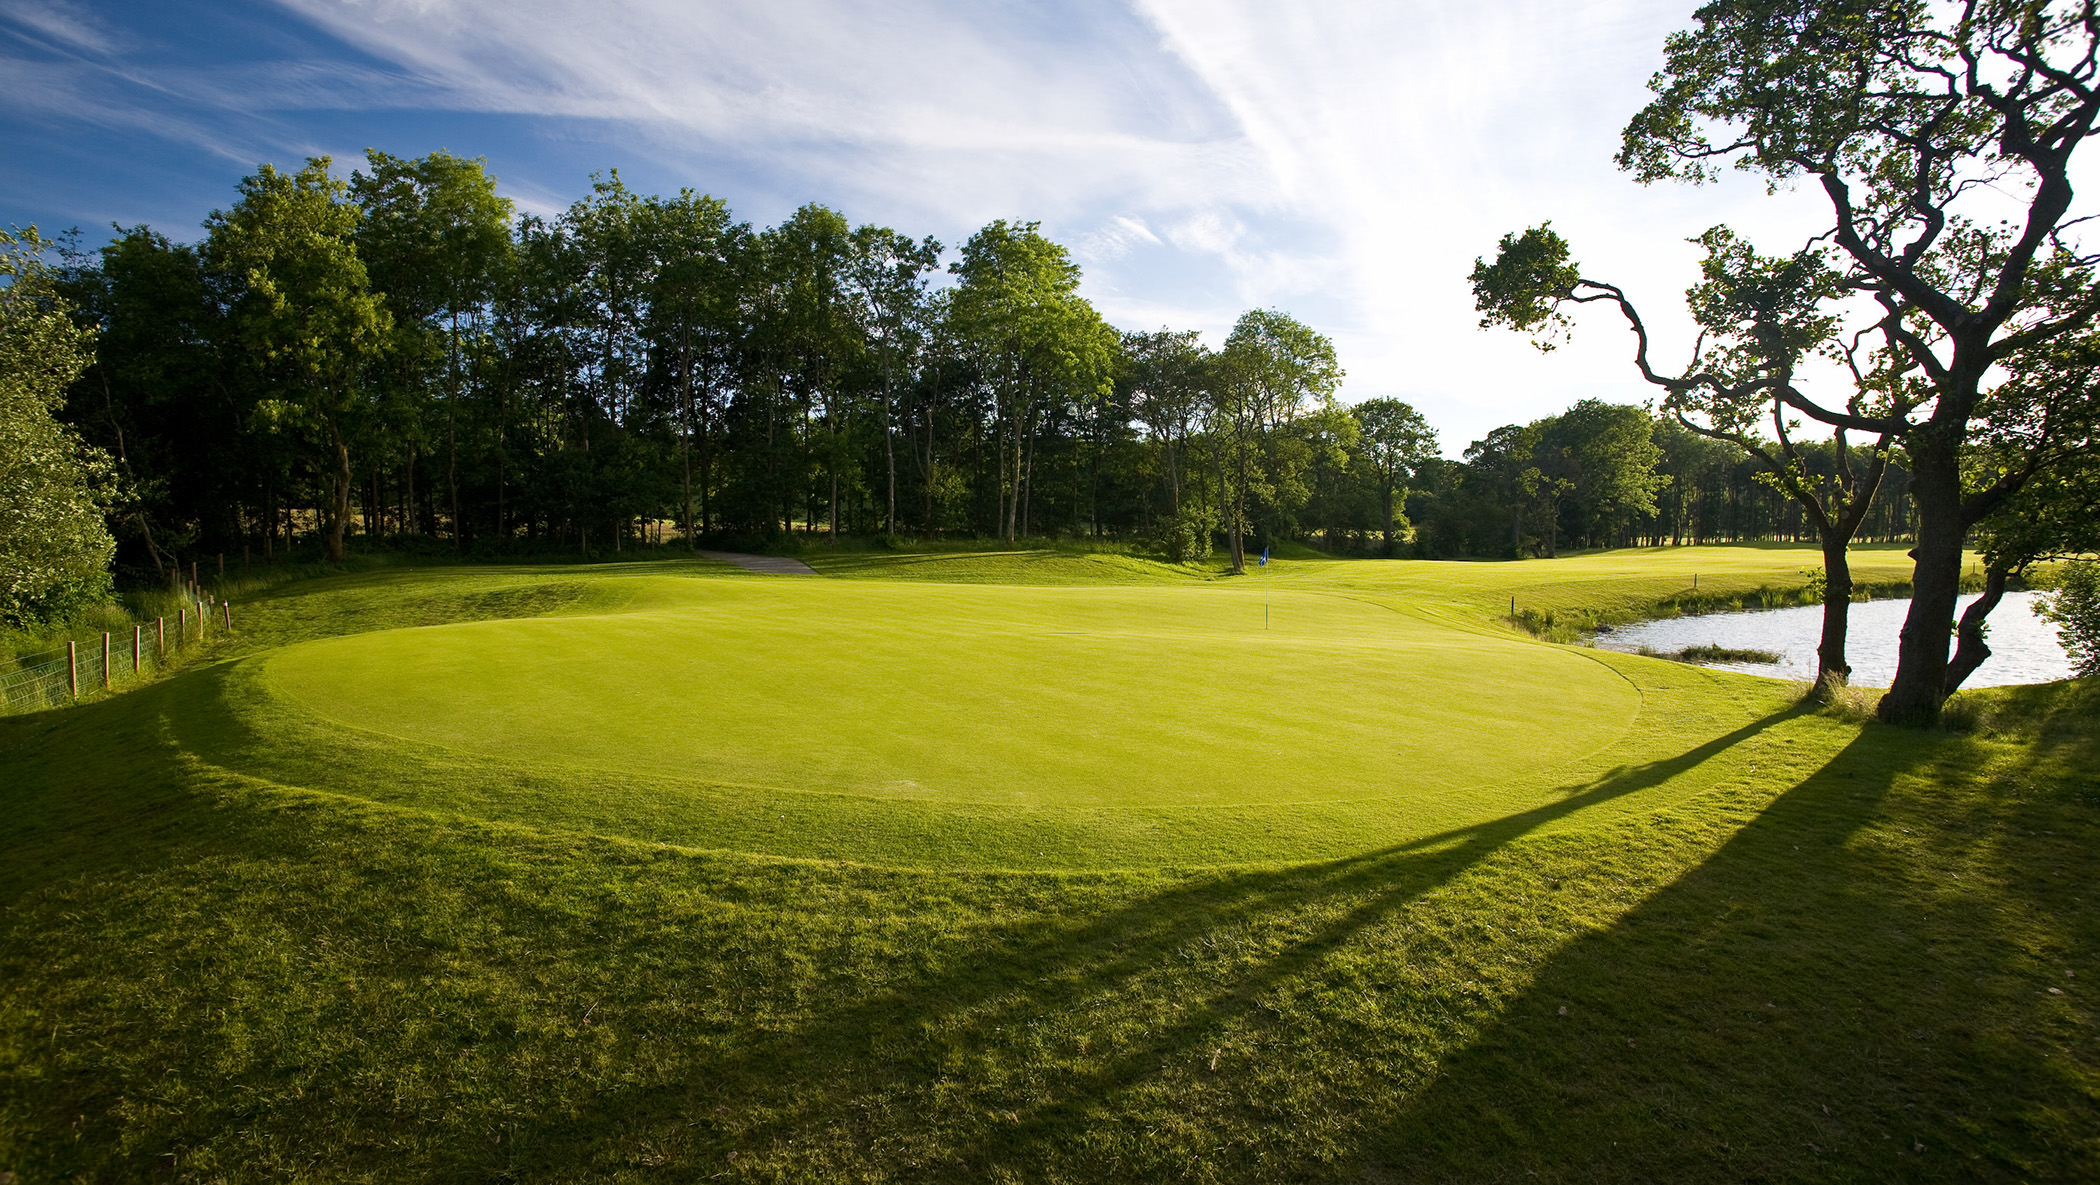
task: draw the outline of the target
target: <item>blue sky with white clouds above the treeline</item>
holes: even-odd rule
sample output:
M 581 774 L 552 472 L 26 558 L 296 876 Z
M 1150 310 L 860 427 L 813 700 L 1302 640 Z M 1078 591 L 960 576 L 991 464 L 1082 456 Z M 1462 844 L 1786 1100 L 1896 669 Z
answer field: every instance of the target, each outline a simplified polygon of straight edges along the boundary
M 1661 366 L 1684 240 L 1791 250 L 1816 191 L 1642 187 L 1611 158 L 1690 2 L 1655 0 L 0 0 L 0 225 L 202 235 L 262 162 L 485 158 L 525 212 L 620 170 L 773 225 L 821 202 L 951 250 L 1040 221 L 1124 330 L 1281 309 L 1340 397 L 1407 399 L 1457 456 L 1575 399 L 1638 403 L 1632 338 L 1550 355 L 1466 282 L 1552 221 Z

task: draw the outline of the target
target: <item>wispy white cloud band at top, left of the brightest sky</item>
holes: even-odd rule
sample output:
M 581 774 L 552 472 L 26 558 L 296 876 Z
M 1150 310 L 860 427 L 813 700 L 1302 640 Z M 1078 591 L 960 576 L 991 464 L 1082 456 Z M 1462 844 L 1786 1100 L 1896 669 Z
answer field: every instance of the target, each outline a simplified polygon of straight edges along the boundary
M 460 109 L 613 122 L 937 216 L 1195 202 L 1252 164 L 1210 95 L 1109 4 L 1031 29 L 1012 8 L 928 0 L 281 2 Z

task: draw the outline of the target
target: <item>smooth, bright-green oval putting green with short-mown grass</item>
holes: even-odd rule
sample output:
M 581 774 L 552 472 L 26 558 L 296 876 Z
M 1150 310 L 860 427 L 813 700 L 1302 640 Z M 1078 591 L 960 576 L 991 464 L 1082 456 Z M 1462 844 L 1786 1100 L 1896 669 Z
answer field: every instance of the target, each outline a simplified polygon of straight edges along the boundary
M 1331 855 L 1262 824 L 1304 834 L 1306 809 L 1403 843 L 1581 788 L 1642 710 L 1598 656 L 1317 592 L 1279 592 L 1264 628 L 1262 601 L 638 578 L 615 614 L 294 645 L 262 685 L 317 744 L 351 729 L 578 796 L 645 784 L 615 832 L 903 864 L 981 824 L 985 855 L 1048 859 L 1000 843 L 1014 819 L 1056 832 L 1058 864 L 1132 859 L 1142 834 L 1147 861 Z M 867 826 L 882 805 L 909 822 Z M 752 834 L 769 809 L 804 826 Z

